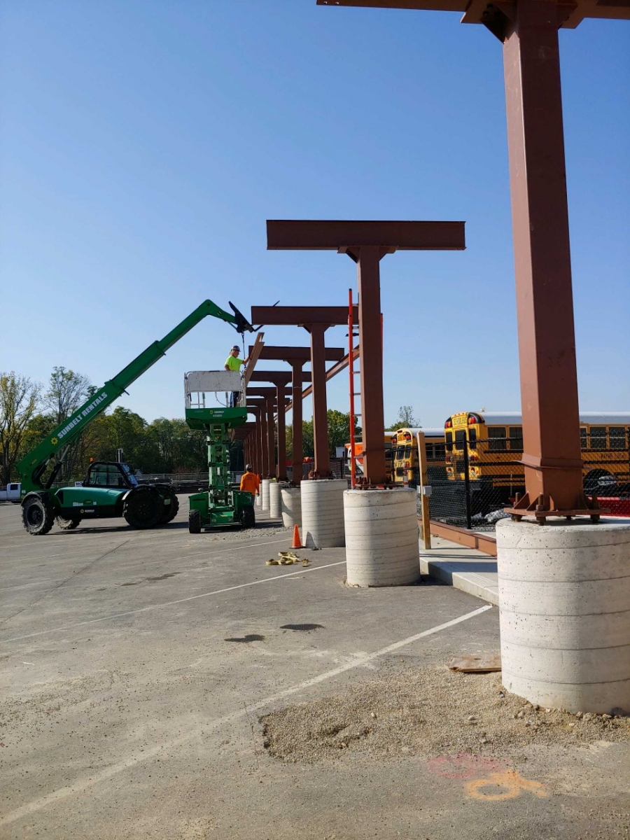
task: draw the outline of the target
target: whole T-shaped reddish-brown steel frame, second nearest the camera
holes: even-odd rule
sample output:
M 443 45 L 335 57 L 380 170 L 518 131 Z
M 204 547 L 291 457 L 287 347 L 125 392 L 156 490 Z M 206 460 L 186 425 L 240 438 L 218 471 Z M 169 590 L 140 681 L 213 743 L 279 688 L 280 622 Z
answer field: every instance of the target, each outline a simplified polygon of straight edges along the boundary
M 463 250 L 465 223 L 270 219 L 267 221 L 267 248 L 336 250 L 339 254 L 347 254 L 357 264 L 365 486 L 383 486 L 387 476 L 383 447 L 385 412 L 379 264 L 386 254 L 396 250 Z M 339 323 L 348 324 L 348 307 L 336 308 L 340 310 Z M 258 310 L 252 307 L 253 323 L 262 321 L 257 314 Z M 314 398 L 313 380 L 313 403 Z

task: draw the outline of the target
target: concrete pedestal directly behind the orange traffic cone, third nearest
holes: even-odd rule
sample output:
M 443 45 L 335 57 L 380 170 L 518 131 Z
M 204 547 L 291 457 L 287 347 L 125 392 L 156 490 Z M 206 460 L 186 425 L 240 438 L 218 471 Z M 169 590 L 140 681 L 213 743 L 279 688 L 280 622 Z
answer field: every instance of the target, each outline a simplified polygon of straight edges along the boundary
M 341 479 L 302 481 L 302 545 L 306 549 L 340 549 L 345 545 L 344 491 Z

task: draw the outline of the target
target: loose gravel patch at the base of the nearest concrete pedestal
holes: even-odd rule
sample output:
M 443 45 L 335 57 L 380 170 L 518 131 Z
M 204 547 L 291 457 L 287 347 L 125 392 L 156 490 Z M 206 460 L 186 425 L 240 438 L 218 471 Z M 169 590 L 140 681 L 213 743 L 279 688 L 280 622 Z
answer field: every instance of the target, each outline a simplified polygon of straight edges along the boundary
M 492 755 L 529 744 L 630 741 L 630 717 L 532 706 L 501 686 L 501 674 L 458 674 L 444 665 L 406 669 L 337 696 L 260 717 L 276 759 L 316 764 L 347 753 Z

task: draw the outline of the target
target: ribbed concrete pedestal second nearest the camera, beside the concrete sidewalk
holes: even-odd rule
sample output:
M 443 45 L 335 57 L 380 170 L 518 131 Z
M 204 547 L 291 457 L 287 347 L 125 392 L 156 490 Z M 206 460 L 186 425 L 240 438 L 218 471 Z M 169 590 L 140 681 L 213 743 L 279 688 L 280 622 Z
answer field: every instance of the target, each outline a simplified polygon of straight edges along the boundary
M 355 586 L 404 586 L 420 580 L 416 491 L 344 492 L 346 580 Z

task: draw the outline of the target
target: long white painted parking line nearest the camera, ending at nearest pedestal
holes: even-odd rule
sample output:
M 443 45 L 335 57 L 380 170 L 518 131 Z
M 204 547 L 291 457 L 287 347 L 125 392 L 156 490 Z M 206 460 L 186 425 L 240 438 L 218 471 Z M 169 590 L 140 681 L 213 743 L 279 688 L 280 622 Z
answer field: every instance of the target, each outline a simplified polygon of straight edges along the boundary
M 323 568 L 323 566 L 320 566 L 319 568 Z M 288 577 L 289 575 L 282 576 Z M 333 668 L 330 671 L 325 671 L 323 674 L 320 674 L 316 677 L 312 677 L 310 680 L 303 680 L 302 682 L 297 683 L 297 685 L 291 685 L 290 688 L 287 688 L 283 691 L 279 691 L 277 694 L 271 695 L 270 697 L 265 697 L 265 700 L 260 700 L 253 706 L 245 706 L 243 709 L 240 709 L 239 711 L 233 711 L 229 715 L 217 717 L 213 721 L 207 722 L 205 727 L 197 727 L 193 732 L 188 732 L 186 735 L 181 736 L 181 738 L 174 738 L 168 743 L 160 743 L 160 746 L 145 749 L 143 753 L 134 753 L 133 755 L 130 755 L 128 759 L 119 761 L 118 764 L 112 764 L 111 767 L 102 770 L 100 773 L 95 773 L 92 776 L 89 776 L 87 779 L 76 780 L 72 783 L 72 785 L 59 788 L 58 790 L 53 790 L 50 794 L 42 796 L 39 799 L 34 800 L 33 802 L 29 802 L 26 805 L 21 806 L 20 808 L 16 808 L 15 811 L 11 811 L 2 819 L 0 819 L 0 826 L 8 825 L 9 822 L 15 822 L 16 820 L 19 820 L 24 816 L 29 816 L 30 814 L 33 814 L 35 811 L 41 811 L 42 808 L 52 805 L 55 802 L 59 802 L 60 800 L 66 799 L 68 796 L 77 793 L 82 793 L 84 790 L 88 790 L 94 785 L 98 785 L 101 782 L 111 779 L 118 773 L 123 773 L 124 770 L 134 767 L 136 764 L 141 764 L 144 761 L 155 758 L 155 756 L 160 755 L 160 753 L 164 755 L 163 751 L 165 749 L 168 750 L 173 747 L 178 747 L 182 743 L 186 743 L 186 741 L 192 740 L 192 738 L 200 738 L 203 734 L 206 734 L 207 732 L 210 732 L 211 730 L 216 729 L 217 727 L 223 726 L 228 723 L 232 723 L 234 721 L 238 721 L 241 717 L 245 717 L 252 711 L 259 711 L 265 706 L 269 706 L 271 703 L 275 703 L 279 700 L 282 700 L 284 697 L 291 696 L 292 694 L 297 694 L 298 691 L 310 688 L 312 685 L 318 685 L 318 683 L 324 682 L 325 680 L 331 680 L 333 677 L 339 676 L 339 674 L 343 674 L 344 671 L 349 671 L 353 668 L 359 668 L 360 665 L 365 665 L 371 662 L 372 659 L 376 659 L 379 656 L 384 656 L 385 654 L 391 654 L 393 651 L 398 650 L 399 648 L 404 648 L 407 644 L 417 642 L 418 639 L 425 638 L 426 636 L 432 636 L 433 633 L 439 633 L 441 630 L 445 630 L 447 627 L 454 627 L 455 624 L 466 622 L 470 618 L 474 618 L 475 616 L 480 615 L 480 613 L 486 612 L 486 610 L 491 609 L 491 604 L 486 604 L 486 606 L 480 606 L 479 609 L 473 610 L 473 612 L 467 612 L 464 616 L 454 618 L 450 622 L 438 624 L 437 627 L 431 627 L 429 630 L 423 630 L 422 633 L 416 633 L 413 636 L 403 638 L 400 642 L 388 644 L 386 648 L 375 650 L 373 654 L 362 654 L 360 656 L 355 657 L 350 662 L 347 662 L 343 665 L 339 665 L 338 668 Z

